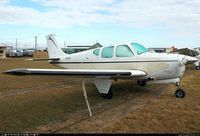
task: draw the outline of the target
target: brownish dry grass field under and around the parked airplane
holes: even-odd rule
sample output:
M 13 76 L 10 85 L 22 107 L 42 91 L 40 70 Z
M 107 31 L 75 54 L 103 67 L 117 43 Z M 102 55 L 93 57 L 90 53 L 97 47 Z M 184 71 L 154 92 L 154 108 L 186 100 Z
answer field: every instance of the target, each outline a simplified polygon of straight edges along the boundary
M 0 73 L 19 67 L 58 68 L 47 61 L 0 60 Z M 113 99 L 106 100 L 88 81 L 89 118 L 81 79 L 0 74 L 0 132 L 198 133 L 199 77 L 200 71 L 186 71 L 183 99 L 174 96 L 173 85 L 140 87 L 119 80 L 113 81 Z

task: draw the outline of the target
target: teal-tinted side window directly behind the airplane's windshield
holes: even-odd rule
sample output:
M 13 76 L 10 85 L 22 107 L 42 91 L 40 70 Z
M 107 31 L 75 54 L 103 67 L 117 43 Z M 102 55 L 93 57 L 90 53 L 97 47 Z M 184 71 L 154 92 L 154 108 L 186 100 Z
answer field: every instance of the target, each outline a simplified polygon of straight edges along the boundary
M 118 45 L 116 49 L 116 57 L 133 57 L 133 52 L 127 45 Z

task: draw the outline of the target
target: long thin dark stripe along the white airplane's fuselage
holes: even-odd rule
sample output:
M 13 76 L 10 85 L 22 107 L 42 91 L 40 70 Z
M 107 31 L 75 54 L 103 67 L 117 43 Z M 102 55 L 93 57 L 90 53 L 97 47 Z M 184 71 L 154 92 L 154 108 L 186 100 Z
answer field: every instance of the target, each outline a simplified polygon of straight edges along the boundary
M 178 62 L 178 60 L 159 60 L 159 61 L 100 61 L 100 62 L 59 62 L 51 61 L 51 64 L 91 64 L 91 63 L 144 63 L 144 62 Z

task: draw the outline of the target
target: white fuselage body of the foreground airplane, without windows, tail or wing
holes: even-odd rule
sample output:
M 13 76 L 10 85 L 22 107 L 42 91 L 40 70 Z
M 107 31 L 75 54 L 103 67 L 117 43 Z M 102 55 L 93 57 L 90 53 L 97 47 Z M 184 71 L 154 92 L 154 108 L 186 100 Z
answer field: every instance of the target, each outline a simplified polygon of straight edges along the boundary
M 101 49 L 98 56 L 93 54 L 93 50 L 70 54 L 67 57 L 61 57 L 59 61 L 51 61 L 50 63 L 66 69 L 140 69 L 147 73 L 145 77 L 137 79 L 148 79 L 150 77 L 153 77 L 154 80 L 175 79 L 181 78 L 185 71 L 185 65 L 181 64 L 184 55 L 149 52 L 137 55 L 132 49 L 135 54 L 133 57 L 116 57 L 113 55 L 112 58 L 102 58 Z M 115 54 L 115 49 L 113 54 Z

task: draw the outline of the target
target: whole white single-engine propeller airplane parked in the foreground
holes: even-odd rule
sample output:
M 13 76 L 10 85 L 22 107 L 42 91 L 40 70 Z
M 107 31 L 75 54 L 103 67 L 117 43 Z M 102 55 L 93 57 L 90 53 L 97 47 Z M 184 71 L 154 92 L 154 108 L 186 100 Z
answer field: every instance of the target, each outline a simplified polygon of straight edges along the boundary
M 46 36 L 51 64 L 65 69 L 17 68 L 5 73 L 14 75 L 68 75 L 94 78 L 94 84 L 104 98 L 111 99 L 111 81 L 117 79 L 135 79 L 137 84 L 173 83 L 177 86 L 175 96 L 183 98 L 185 91 L 180 81 L 185 65 L 197 61 L 194 57 L 178 54 L 150 53 L 138 44 L 105 46 L 74 54 L 66 54 L 54 35 Z

